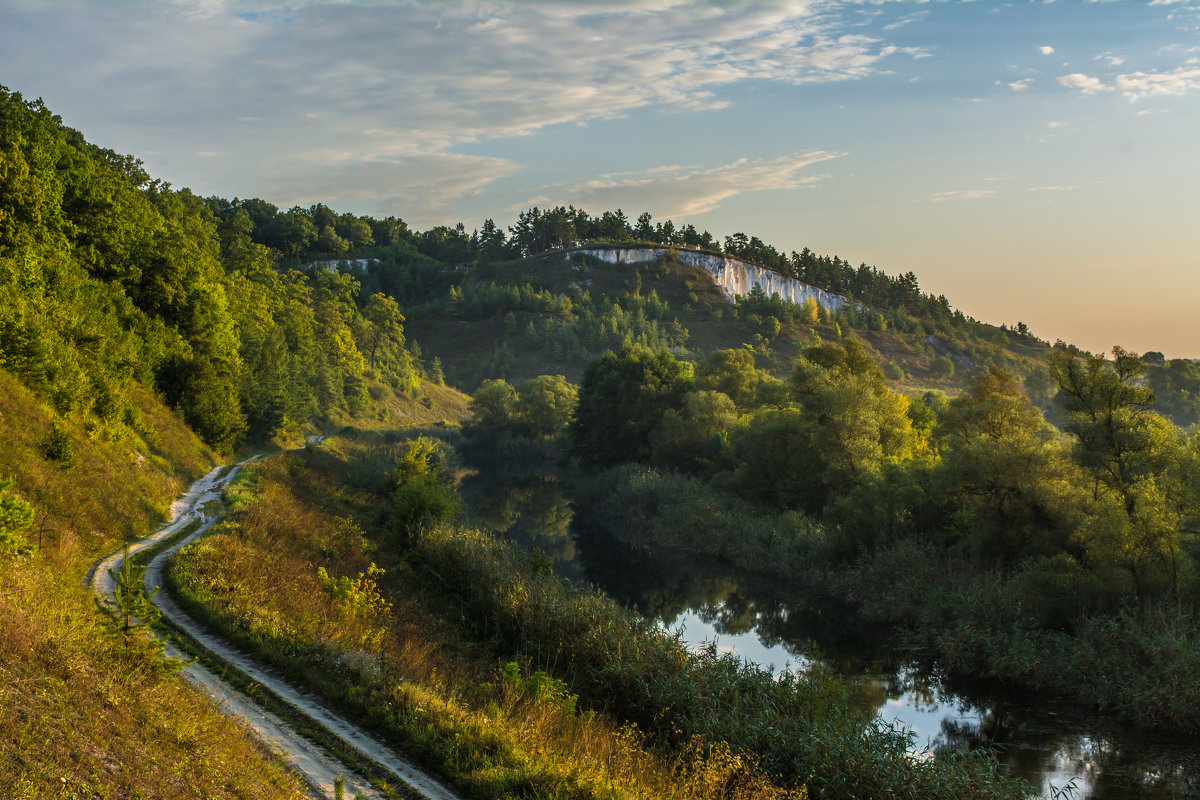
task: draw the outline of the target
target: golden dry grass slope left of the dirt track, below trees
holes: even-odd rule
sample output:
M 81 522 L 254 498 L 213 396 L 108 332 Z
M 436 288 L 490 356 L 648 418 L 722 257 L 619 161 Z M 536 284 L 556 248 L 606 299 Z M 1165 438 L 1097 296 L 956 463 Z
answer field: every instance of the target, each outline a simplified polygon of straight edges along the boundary
M 134 390 L 132 427 L 59 420 L 74 465 L 41 450 L 54 414 L 0 371 L 0 475 L 37 512 L 32 555 L 0 555 L 0 794 L 5 798 L 300 798 L 295 777 L 127 640 L 83 576 L 211 468 L 175 416 Z

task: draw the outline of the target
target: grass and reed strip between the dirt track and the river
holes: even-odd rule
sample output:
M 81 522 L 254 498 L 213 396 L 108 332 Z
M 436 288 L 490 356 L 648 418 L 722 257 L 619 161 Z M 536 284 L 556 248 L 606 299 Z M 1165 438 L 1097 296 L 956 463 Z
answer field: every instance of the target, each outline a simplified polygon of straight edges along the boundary
M 689 654 L 486 535 L 442 525 L 391 548 L 379 498 L 340 479 L 360 453 L 324 450 L 256 468 L 252 497 L 234 493 L 229 521 L 173 581 L 193 613 L 466 794 L 1027 789 L 985 759 L 913 762 L 904 736 L 848 711 L 827 674 L 775 681 Z

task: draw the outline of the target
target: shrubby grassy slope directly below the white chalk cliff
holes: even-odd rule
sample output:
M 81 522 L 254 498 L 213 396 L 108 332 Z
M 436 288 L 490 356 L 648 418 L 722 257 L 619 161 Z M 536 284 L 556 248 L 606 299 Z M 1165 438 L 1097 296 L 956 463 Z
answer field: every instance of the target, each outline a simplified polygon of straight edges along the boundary
M 593 359 L 626 339 L 684 357 L 749 348 L 758 368 L 785 377 L 815 338 L 853 336 L 907 393 L 958 393 L 989 365 L 1040 377 L 1050 350 L 1032 336 L 978 323 L 929 332 L 902 312 L 847 318 L 769 300 L 731 303 L 702 269 L 670 258 L 612 265 L 560 251 L 444 269 L 438 277 L 407 297 L 409 331 L 427 356 L 440 359 L 448 379 L 468 390 L 487 378 L 577 381 Z M 919 330 L 902 330 L 898 320 Z M 1043 386 L 1037 377 L 1030 384 Z

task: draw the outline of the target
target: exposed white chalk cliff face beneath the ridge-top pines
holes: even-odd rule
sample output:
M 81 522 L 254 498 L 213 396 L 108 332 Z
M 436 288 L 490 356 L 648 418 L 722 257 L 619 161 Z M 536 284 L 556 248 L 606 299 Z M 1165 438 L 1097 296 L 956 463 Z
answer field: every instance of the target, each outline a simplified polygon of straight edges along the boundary
M 576 251 L 599 258 L 608 264 L 640 264 L 653 261 L 667 252 L 666 247 L 598 247 Z M 716 285 L 721 288 L 725 296 L 732 302 L 734 297 L 748 295 L 755 287 L 762 287 L 769 297 L 778 294 L 784 300 L 794 303 L 803 303 L 809 297 L 817 301 L 817 305 L 838 311 L 846 305 L 847 300 L 841 295 L 835 295 L 824 289 L 809 285 L 803 281 L 785 278 L 782 275 L 764 270 L 754 264 L 749 264 L 728 255 L 714 255 L 712 253 L 697 253 L 690 249 L 677 249 L 676 258 L 683 264 L 698 266 L 708 272 Z

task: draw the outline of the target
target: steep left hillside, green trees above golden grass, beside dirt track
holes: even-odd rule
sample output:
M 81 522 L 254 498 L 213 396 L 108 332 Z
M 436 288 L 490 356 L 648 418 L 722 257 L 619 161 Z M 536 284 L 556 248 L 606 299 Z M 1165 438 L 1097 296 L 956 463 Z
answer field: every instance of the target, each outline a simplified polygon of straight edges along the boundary
M 5 796 L 304 793 L 84 587 L 235 449 L 466 413 L 413 371 L 394 305 L 275 259 L 0 88 Z

